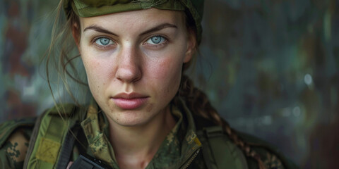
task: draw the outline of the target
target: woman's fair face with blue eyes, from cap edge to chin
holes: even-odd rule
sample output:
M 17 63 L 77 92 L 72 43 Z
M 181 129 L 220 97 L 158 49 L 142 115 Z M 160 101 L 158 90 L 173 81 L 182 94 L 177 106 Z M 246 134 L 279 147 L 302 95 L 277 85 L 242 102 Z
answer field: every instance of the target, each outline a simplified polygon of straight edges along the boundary
M 109 121 L 150 123 L 168 111 L 195 39 L 184 14 L 150 8 L 80 18 L 78 49 L 97 104 Z

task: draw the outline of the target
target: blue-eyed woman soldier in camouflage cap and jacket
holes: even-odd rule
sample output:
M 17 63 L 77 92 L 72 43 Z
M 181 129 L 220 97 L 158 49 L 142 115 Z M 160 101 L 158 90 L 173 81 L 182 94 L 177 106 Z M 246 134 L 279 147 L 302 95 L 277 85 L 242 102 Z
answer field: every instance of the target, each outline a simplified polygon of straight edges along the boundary
M 201 41 L 203 1 L 61 6 L 93 100 L 1 125 L 2 168 L 293 167 L 263 142 L 236 134 L 183 75 Z M 56 62 L 61 76 L 73 68 L 68 46 Z

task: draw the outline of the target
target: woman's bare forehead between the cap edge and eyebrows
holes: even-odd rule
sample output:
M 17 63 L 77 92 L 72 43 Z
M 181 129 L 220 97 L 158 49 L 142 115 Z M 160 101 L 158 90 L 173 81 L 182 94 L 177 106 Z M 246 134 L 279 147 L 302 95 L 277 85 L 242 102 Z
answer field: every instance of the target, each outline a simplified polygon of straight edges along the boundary
M 112 13 L 89 18 L 80 18 L 81 27 L 102 25 L 108 27 L 147 27 L 157 23 L 172 23 L 178 27 L 184 26 L 184 12 L 149 8 L 138 11 Z

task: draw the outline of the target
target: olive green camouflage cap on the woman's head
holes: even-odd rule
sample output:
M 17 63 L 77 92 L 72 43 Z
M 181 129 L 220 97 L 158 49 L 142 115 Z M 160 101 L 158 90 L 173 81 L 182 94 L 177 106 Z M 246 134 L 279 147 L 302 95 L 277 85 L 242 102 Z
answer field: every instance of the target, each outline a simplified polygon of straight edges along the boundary
M 93 17 L 109 13 L 158 8 L 188 11 L 196 23 L 197 42 L 201 42 L 201 20 L 204 0 L 64 0 L 64 10 L 69 16 L 74 11 L 80 17 Z

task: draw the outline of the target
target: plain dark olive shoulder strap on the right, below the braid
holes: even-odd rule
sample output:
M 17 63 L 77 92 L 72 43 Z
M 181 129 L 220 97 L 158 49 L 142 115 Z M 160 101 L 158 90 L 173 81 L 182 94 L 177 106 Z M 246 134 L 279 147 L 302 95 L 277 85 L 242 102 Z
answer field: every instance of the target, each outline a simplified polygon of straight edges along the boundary
M 246 158 L 222 131 L 220 126 L 205 127 L 198 131 L 203 144 L 203 158 L 209 169 L 247 169 Z

